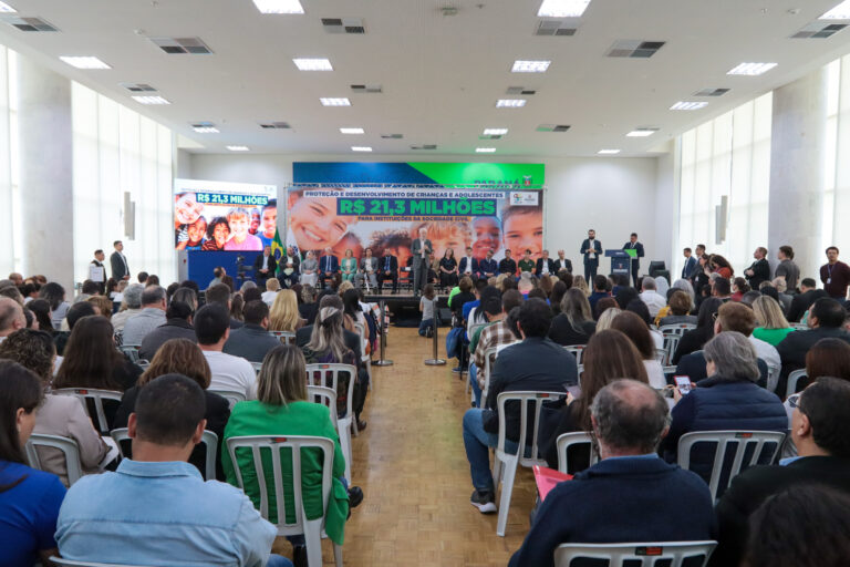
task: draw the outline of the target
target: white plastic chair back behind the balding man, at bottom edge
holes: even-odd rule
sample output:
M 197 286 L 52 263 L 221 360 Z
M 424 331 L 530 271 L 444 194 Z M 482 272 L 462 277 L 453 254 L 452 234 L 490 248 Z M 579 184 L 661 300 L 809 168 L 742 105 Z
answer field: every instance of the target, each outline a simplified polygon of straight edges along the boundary
M 652 544 L 561 544 L 554 549 L 554 566 L 570 567 L 574 559 L 603 559 L 609 567 L 682 567 L 686 559 L 701 558 L 705 566 L 717 542 L 663 542 Z

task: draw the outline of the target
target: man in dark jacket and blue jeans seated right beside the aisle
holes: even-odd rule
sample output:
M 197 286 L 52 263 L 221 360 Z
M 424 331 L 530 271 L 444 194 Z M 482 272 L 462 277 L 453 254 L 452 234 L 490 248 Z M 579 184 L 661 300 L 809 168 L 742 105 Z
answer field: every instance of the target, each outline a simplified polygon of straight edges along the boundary
M 507 250 L 506 250 L 507 251 Z M 549 338 L 552 310 L 542 299 L 531 298 L 519 307 L 522 342 L 499 352 L 490 374 L 486 409 L 473 408 L 464 414 L 464 445 L 473 475 L 471 504 L 481 514 L 496 512 L 496 495 L 490 474 L 489 447 L 497 444 L 499 414 L 497 398 L 502 392 L 564 392 L 579 380 L 576 358 Z M 506 409 L 506 436 L 519 440 L 520 408 Z M 531 564 L 528 564 L 531 565 Z

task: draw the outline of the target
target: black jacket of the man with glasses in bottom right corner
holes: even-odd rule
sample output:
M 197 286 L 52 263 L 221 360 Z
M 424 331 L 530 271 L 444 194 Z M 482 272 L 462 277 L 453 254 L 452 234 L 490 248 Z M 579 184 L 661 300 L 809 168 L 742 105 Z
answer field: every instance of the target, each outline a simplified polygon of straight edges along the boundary
M 808 456 L 787 466 L 754 466 L 736 476 L 717 503 L 718 545 L 708 565 L 738 565 L 747 542 L 749 516 L 769 496 L 802 484 L 820 484 L 850 493 L 850 460 Z

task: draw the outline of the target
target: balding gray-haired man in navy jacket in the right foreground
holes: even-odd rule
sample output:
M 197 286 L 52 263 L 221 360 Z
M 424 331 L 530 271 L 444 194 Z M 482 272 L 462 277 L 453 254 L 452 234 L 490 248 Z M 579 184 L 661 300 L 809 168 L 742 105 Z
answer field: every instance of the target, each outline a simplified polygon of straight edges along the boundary
M 509 567 L 553 566 L 561 544 L 714 539 L 708 486 L 655 452 L 667 423 L 666 402 L 647 384 L 600 390 L 591 405 L 600 462 L 546 496 Z

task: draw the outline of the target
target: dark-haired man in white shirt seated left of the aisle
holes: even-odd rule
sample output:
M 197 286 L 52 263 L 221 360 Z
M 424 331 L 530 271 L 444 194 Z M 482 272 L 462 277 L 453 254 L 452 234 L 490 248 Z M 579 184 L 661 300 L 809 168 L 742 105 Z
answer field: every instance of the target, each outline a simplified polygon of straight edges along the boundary
M 230 313 L 227 309 L 218 303 L 208 303 L 195 313 L 193 323 L 198 347 L 204 351 L 212 374 L 209 389 L 240 392 L 247 400 L 256 400 L 257 373 L 251 363 L 221 352 L 230 338 Z

